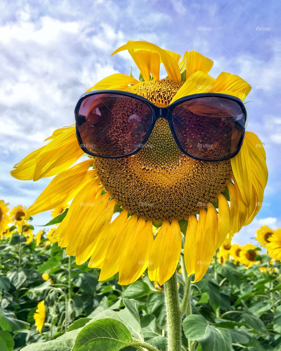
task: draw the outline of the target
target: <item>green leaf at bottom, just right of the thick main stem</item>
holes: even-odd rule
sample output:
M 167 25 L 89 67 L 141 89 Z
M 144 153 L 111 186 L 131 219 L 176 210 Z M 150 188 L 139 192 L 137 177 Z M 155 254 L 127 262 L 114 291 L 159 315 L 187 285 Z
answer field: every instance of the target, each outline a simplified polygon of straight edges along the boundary
M 233 351 L 229 330 L 209 325 L 199 314 L 185 317 L 183 331 L 186 338 L 200 343 L 204 351 Z

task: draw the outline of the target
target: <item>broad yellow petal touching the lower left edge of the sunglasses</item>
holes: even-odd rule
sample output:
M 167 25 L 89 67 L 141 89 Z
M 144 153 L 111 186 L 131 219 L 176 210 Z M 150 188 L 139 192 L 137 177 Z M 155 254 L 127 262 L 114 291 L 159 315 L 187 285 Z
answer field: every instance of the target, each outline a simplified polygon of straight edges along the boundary
M 76 138 L 75 127 L 69 127 L 41 150 L 34 168 L 33 180 L 66 170 L 83 154 Z

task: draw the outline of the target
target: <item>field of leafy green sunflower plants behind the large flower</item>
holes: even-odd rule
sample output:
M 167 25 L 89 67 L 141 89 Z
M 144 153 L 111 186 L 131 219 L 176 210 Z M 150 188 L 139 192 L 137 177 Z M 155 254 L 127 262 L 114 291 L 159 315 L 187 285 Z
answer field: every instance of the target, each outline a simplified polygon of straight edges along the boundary
M 128 286 L 118 274 L 99 281 L 98 269 L 78 266 L 53 239 L 67 210 L 56 208 L 36 235 L 32 217 L 19 217 L 25 208 L 6 212 L 13 223 L 0 243 L 1 351 L 167 350 L 163 286 L 146 272 Z M 226 240 L 190 284 L 189 300 L 181 257 L 182 350 L 280 350 L 280 235 L 262 226 L 256 246 Z

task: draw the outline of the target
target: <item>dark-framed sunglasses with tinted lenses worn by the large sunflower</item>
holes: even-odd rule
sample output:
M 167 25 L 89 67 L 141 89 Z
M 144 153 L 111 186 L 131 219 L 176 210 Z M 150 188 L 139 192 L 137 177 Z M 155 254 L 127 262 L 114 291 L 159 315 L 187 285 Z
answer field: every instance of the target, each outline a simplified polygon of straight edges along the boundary
M 162 118 L 185 155 L 226 160 L 240 150 L 247 120 L 242 100 L 221 93 L 188 95 L 158 107 L 137 94 L 99 90 L 82 95 L 74 113 L 81 149 L 104 158 L 128 157 L 153 147 L 145 143 Z

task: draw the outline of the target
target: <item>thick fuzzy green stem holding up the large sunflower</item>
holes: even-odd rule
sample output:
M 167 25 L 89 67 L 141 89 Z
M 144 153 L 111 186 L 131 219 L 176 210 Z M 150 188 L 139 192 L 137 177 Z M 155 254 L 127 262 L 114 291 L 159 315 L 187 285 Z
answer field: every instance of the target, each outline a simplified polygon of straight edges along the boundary
M 167 331 L 168 331 L 168 351 L 181 351 L 181 324 L 182 316 L 179 308 L 177 271 L 164 283 Z

